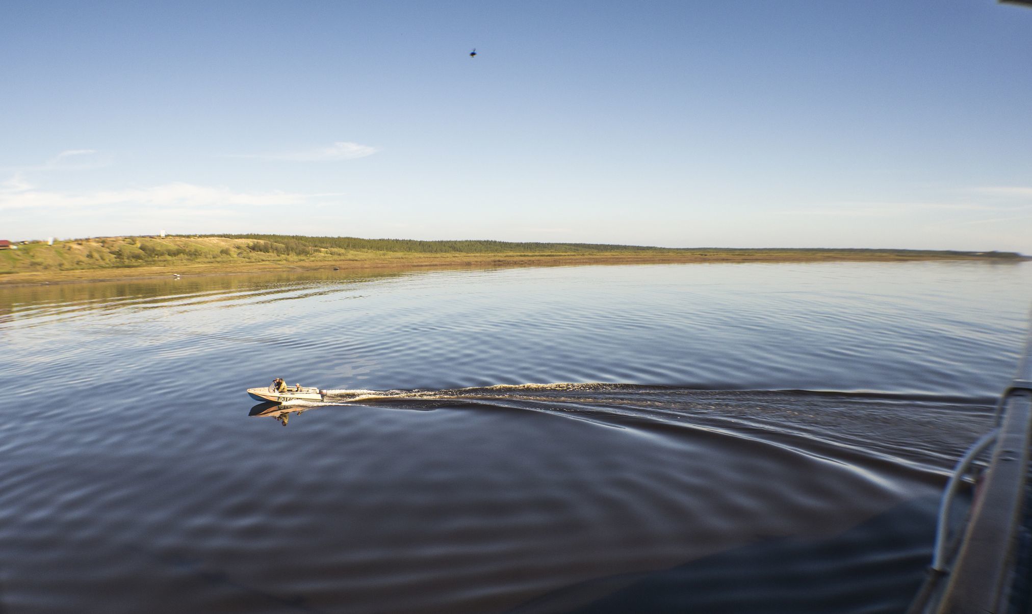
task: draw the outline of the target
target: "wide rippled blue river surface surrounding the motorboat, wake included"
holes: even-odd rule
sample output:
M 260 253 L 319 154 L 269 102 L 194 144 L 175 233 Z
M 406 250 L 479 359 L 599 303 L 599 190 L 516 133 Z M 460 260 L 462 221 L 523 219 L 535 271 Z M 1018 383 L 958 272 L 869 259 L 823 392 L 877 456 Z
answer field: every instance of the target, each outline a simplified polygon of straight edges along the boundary
M 1030 303 L 989 263 L 0 287 L 0 611 L 900 612 Z

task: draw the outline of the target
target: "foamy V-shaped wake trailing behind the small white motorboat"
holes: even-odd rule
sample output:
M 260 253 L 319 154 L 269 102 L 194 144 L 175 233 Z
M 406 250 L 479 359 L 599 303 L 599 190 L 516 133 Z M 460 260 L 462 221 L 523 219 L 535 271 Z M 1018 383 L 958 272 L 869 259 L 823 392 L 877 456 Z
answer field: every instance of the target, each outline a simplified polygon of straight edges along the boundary
M 860 455 L 943 474 L 989 423 L 992 399 L 828 390 L 704 390 L 637 384 L 553 383 L 452 389 L 326 389 L 252 415 L 313 409 L 533 411 L 640 433 L 705 430 L 809 454 Z

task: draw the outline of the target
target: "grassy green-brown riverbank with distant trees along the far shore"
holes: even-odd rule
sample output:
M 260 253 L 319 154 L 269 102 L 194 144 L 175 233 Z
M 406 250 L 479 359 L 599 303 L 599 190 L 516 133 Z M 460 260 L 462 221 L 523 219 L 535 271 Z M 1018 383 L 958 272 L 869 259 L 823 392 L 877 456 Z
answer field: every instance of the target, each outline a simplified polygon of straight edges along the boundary
M 0 251 L 0 284 L 114 280 L 263 270 L 418 268 L 648 262 L 833 260 L 1018 261 L 1009 252 L 819 249 L 664 249 L 486 240 L 420 241 L 265 234 L 115 236 L 20 245 Z

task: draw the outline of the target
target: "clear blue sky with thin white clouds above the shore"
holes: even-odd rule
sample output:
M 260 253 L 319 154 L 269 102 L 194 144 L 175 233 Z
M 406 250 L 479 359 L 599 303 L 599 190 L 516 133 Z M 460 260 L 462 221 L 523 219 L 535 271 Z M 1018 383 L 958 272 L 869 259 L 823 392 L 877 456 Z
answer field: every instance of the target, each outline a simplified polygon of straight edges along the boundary
M 991 0 L 5 0 L 0 237 L 1032 254 L 1030 57 Z

